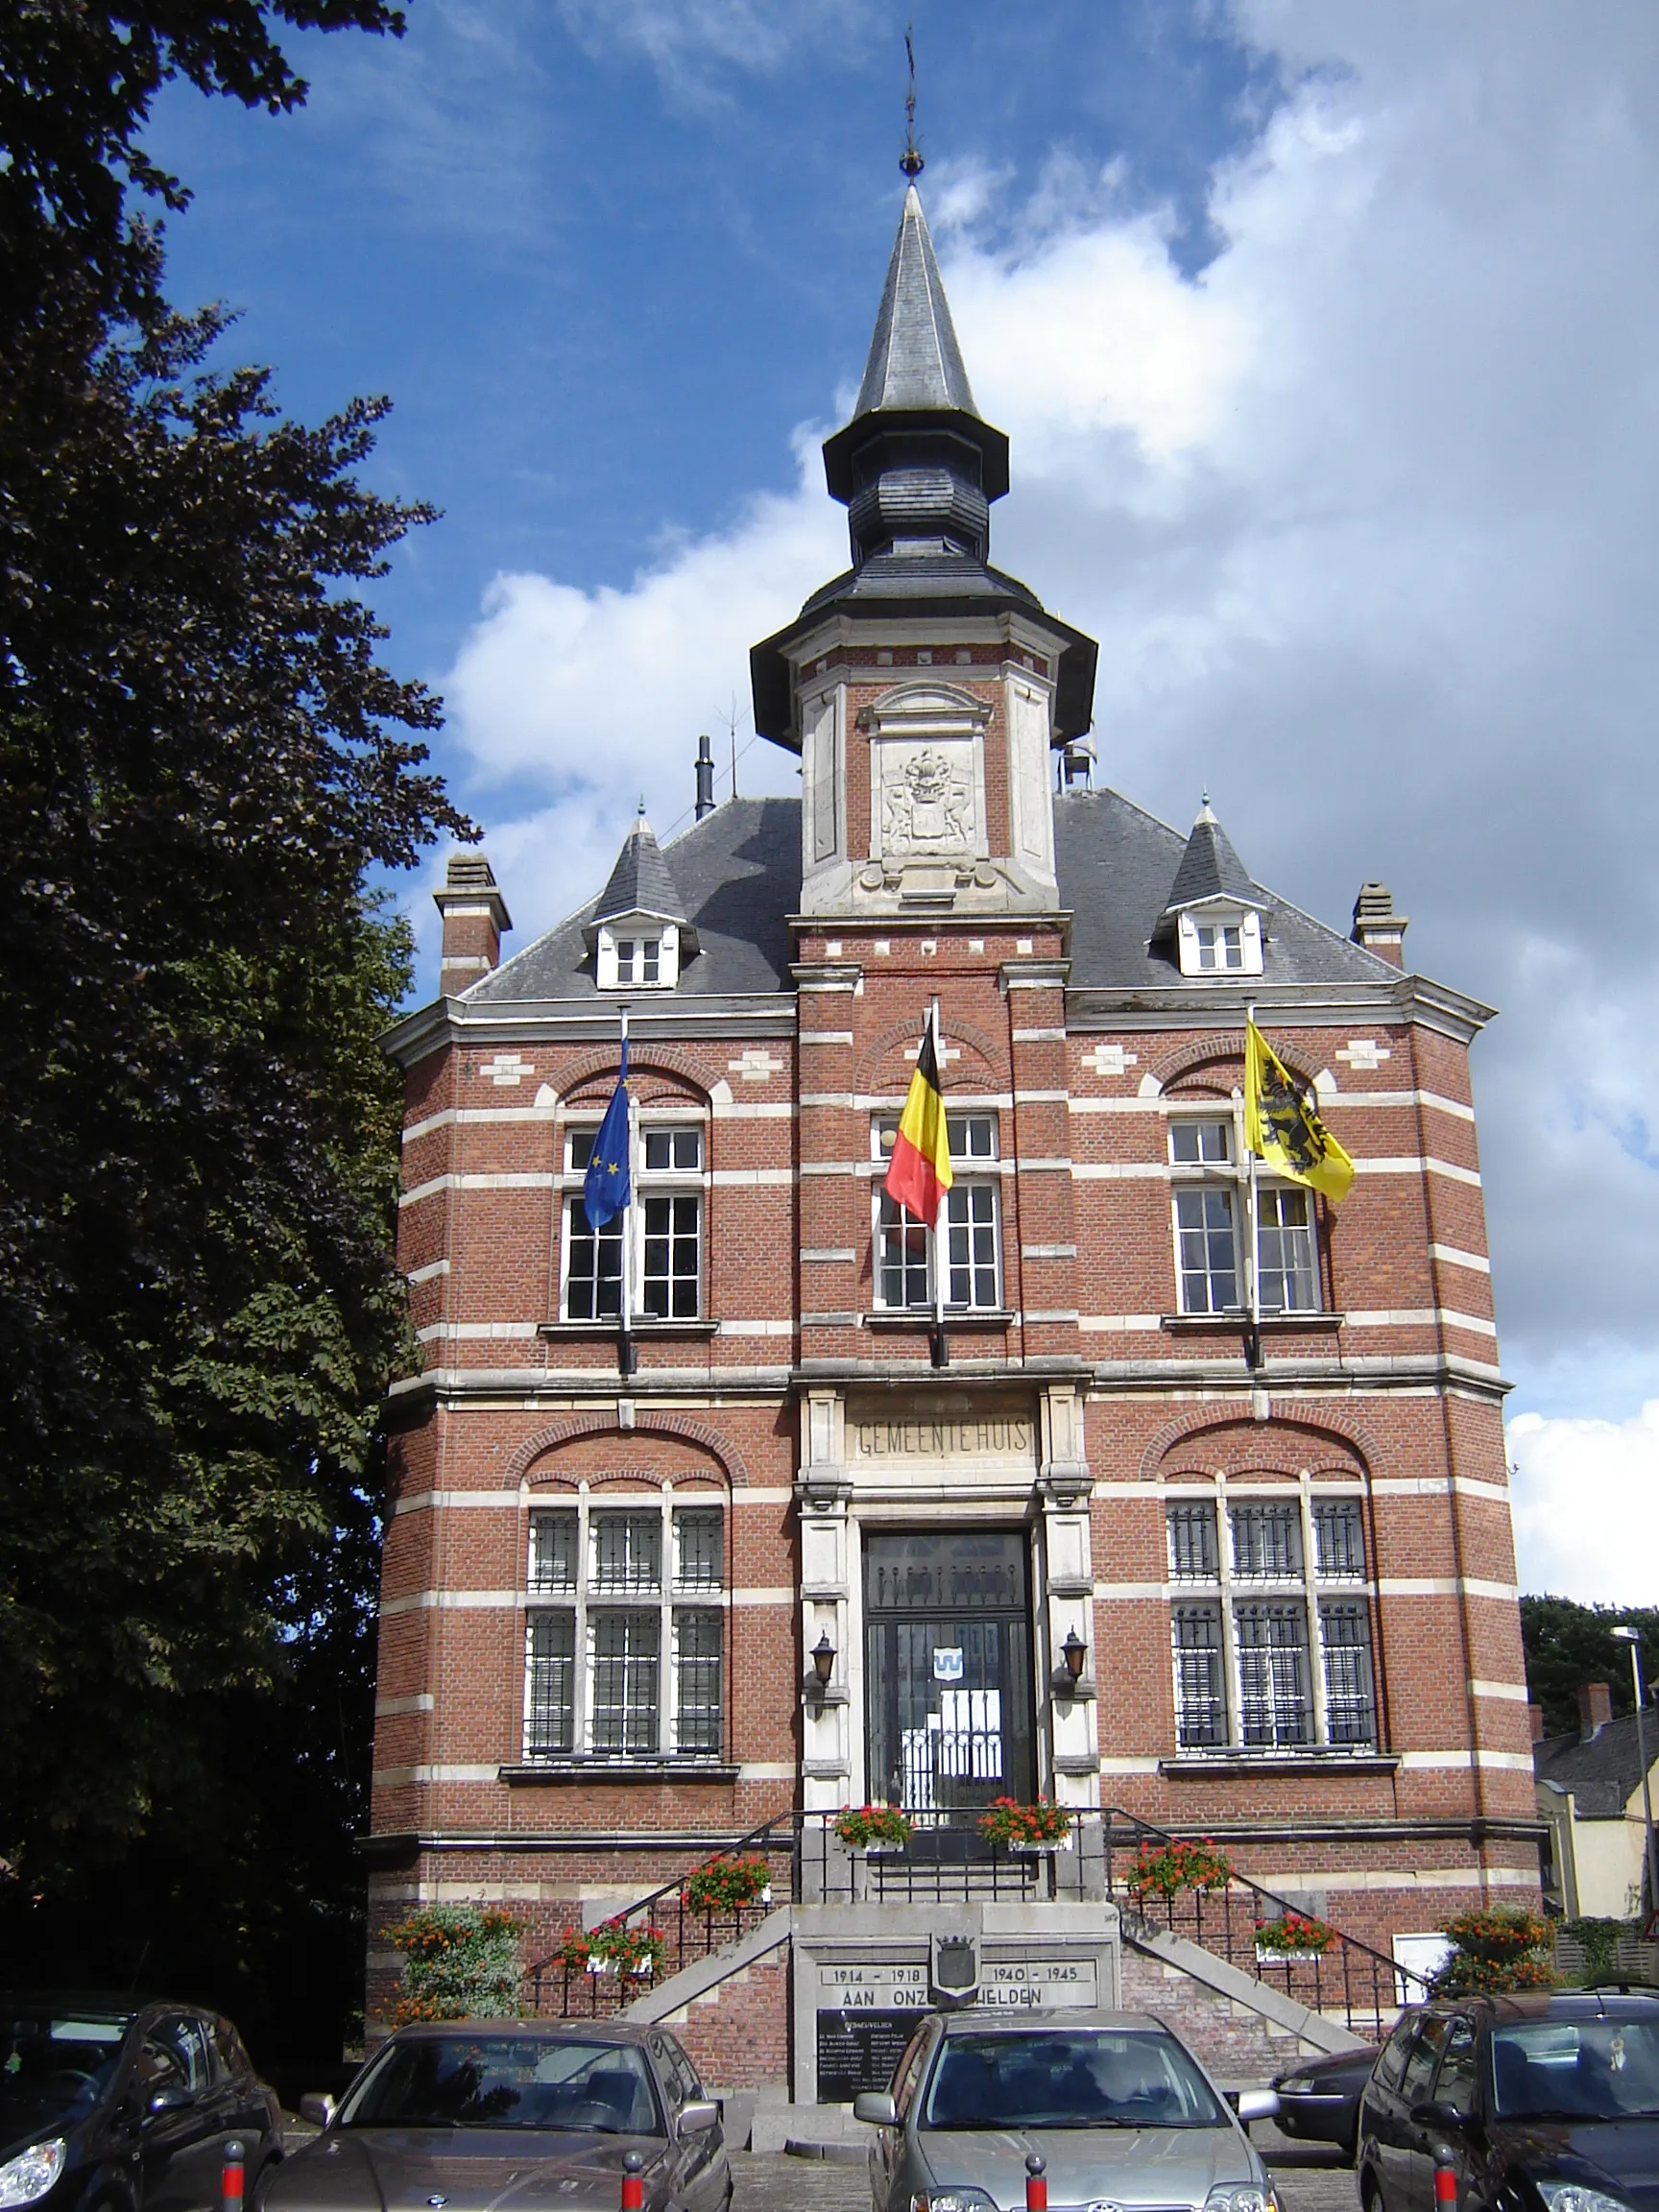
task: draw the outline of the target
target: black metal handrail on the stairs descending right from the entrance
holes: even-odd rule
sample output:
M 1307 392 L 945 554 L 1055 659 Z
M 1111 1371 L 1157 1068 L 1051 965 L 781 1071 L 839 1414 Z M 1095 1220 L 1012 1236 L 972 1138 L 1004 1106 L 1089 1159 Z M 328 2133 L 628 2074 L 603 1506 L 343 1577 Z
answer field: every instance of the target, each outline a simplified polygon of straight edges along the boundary
M 1237 1869 L 1230 1871 L 1225 1889 L 1181 1889 L 1175 1896 L 1146 1891 L 1121 1871 L 1119 1854 L 1128 1847 L 1135 1854 L 1135 1863 L 1139 1863 L 1141 1847 L 1148 1843 L 1164 1849 L 1199 1838 L 1192 1832 L 1177 1836 L 1166 1827 L 1155 1827 L 1121 1805 L 1102 1807 L 1102 1820 L 1106 1896 L 1133 1896 L 1133 1911 L 1148 1927 L 1161 1922 L 1172 1936 L 1188 1936 L 1214 1958 L 1250 1973 L 1256 1982 L 1265 1982 L 1270 1989 L 1283 1986 L 1287 1997 L 1314 2013 L 1329 2013 L 1340 2004 L 1347 2026 L 1354 2033 L 1360 2033 L 1360 2022 L 1365 2022 L 1378 2039 L 1387 2033 L 1400 2008 L 1400 1991 L 1405 1991 L 1405 2002 L 1418 2002 L 1429 1995 L 1427 1975 L 1413 1966 L 1402 1966 L 1398 1960 L 1387 1958 L 1363 1938 L 1349 1936 L 1343 1929 L 1332 1929 L 1329 1951 L 1274 1951 L 1263 1958 L 1256 1929 L 1285 1913 L 1301 1913 L 1303 1907 L 1294 1898 L 1285 1898 Z M 1239 1924 L 1237 1905 L 1245 1905 L 1248 1909 L 1250 1918 L 1245 1927 Z M 1270 1905 L 1274 1911 L 1263 1913 L 1261 1905 Z

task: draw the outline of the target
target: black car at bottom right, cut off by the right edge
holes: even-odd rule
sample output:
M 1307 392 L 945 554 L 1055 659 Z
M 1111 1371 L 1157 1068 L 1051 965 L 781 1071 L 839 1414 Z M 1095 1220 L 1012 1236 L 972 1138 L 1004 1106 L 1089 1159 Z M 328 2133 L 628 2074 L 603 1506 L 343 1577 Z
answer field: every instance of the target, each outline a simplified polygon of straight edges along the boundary
M 1360 2099 L 1365 2212 L 1431 2212 L 1440 2146 L 1462 2212 L 1659 2203 L 1659 1997 L 1586 1989 L 1402 2013 Z

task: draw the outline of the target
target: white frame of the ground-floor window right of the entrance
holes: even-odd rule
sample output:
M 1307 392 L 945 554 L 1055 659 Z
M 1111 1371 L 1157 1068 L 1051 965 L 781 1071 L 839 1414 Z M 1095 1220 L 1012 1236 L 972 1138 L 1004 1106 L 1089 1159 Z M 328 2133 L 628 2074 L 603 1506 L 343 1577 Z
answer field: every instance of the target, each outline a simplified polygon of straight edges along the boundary
M 1190 1533 L 1177 1544 L 1177 1515 L 1206 1509 L 1212 1513 L 1210 1553 L 1214 1573 L 1206 1575 L 1203 1544 L 1192 1544 Z M 1274 1515 L 1292 1513 L 1294 1546 L 1287 1546 L 1285 1566 L 1270 1562 L 1263 1571 L 1241 1568 L 1237 1542 L 1239 1524 L 1234 1515 L 1267 1509 Z M 1170 1668 L 1175 1683 L 1175 1734 L 1179 1756 L 1230 1756 L 1230 1759 L 1283 1759 L 1316 1752 L 1376 1752 L 1380 1743 L 1383 1717 L 1376 1688 L 1376 1584 L 1367 1575 L 1365 1546 L 1365 1495 L 1356 1484 L 1314 1484 L 1301 1478 L 1298 1484 L 1250 1484 L 1219 1482 L 1214 1486 L 1192 1484 L 1164 1500 L 1164 1526 L 1168 1546 L 1170 1588 Z M 1327 1542 L 1327 1531 L 1340 1524 L 1340 1537 Z M 1197 1559 L 1197 1566 L 1194 1566 Z M 1356 1564 L 1358 1559 L 1358 1564 Z M 1183 1564 L 1181 1564 L 1183 1562 Z M 1252 1608 L 1294 1608 L 1301 1624 L 1307 1734 L 1303 1741 L 1245 1741 L 1245 1705 L 1261 1703 L 1245 1699 L 1245 1646 L 1241 1641 L 1241 1617 L 1250 1619 Z M 1217 1621 L 1221 1644 L 1221 1677 L 1225 1686 L 1225 1741 L 1183 1743 L 1183 1668 L 1177 1630 L 1183 1613 L 1206 1610 Z M 1360 1635 L 1354 1630 L 1360 1628 Z M 1261 1650 L 1263 1646 L 1252 1646 Z M 1358 1657 L 1349 1657 L 1349 1655 Z M 1272 1677 L 1276 1670 L 1267 1666 Z M 1270 1705 L 1276 1701 L 1276 1683 L 1270 1683 Z M 1365 1725 L 1369 1717 L 1369 1728 Z M 1274 1730 L 1276 1736 L 1276 1730 Z

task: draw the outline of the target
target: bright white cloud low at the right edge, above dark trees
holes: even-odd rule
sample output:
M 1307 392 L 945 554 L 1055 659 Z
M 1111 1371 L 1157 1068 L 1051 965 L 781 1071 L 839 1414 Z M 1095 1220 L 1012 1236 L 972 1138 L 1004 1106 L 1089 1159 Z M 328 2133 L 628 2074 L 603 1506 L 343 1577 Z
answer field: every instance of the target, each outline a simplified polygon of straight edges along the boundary
M 1630 1420 L 1509 1425 L 1522 1590 L 1650 1606 L 1659 1559 L 1659 1398 Z

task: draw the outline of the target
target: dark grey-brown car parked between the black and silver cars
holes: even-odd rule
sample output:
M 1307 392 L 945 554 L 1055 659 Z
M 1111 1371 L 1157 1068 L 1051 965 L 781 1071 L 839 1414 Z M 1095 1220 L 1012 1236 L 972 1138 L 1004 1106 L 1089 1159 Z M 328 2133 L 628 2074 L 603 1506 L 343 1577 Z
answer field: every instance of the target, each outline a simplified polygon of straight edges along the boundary
M 668 2028 L 398 2028 L 338 2110 L 332 2097 L 301 2097 L 299 2108 L 323 2132 L 288 2159 L 265 2212 L 487 2212 L 502 2201 L 617 2212 L 630 2152 L 646 2212 L 726 2212 L 732 2201 L 719 2106 Z

